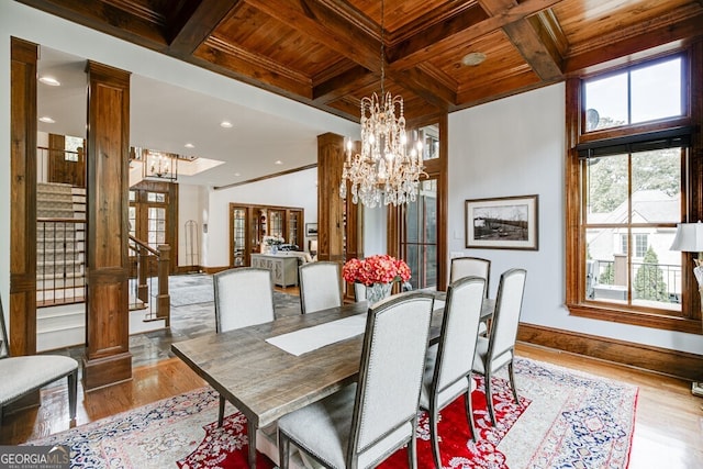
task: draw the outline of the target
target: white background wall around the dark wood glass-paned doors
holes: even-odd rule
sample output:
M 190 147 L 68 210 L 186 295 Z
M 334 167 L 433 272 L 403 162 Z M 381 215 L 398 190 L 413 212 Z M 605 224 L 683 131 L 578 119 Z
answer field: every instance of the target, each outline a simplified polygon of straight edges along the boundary
M 317 152 L 317 148 L 311 148 Z M 304 223 L 317 223 L 317 168 L 265 179 L 230 189 L 210 189 L 207 205 L 208 234 L 202 266 L 230 265 L 230 203 L 282 205 L 305 210 Z M 203 221 L 204 223 L 204 221 Z M 304 247 L 308 246 L 305 238 Z M 303 247 L 303 246 L 301 246 Z

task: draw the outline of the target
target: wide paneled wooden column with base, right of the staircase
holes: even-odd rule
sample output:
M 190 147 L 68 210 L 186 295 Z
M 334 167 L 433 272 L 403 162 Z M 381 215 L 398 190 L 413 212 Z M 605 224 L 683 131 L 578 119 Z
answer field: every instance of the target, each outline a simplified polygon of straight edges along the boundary
M 132 379 L 127 290 L 130 74 L 89 62 L 83 389 Z

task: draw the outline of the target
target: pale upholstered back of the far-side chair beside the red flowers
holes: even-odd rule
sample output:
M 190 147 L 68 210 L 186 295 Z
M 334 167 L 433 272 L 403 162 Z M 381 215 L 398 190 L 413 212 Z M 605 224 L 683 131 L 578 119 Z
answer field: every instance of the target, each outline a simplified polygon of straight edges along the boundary
M 304 264 L 298 269 L 300 281 L 300 311 L 314 311 L 342 305 L 339 265 L 332 261 Z

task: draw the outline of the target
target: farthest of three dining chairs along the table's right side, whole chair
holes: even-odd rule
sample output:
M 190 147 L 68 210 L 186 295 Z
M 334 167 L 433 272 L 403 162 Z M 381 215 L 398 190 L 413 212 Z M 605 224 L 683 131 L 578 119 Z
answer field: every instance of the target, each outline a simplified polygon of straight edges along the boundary
M 515 388 L 513 358 L 526 276 L 525 269 L 510 269 L 501 275 L 490 334 L 488 337 L 479 336 L 476 344 L 473 372 L 486 377 L 486 401 L 493 425 L 495 425 L 495 412 L 491 394 L 491 377 L 504 366 L 507 366 L 515 403 L 521 405 Z

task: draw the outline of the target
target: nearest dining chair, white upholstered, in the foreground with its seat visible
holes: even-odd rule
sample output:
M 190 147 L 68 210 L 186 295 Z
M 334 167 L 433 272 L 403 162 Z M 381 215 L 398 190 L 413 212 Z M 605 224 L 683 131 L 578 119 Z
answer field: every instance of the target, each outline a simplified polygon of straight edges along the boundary
M 327 468 L 375 467 L 408 445 L 409 465 L 417 467 L 432 306 L 431 294 L 405 292 L 369 309 L 358 381 L 278 421 L 281 469 L 288 468 L 291 443 Z

